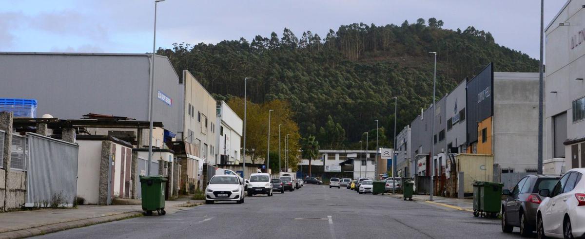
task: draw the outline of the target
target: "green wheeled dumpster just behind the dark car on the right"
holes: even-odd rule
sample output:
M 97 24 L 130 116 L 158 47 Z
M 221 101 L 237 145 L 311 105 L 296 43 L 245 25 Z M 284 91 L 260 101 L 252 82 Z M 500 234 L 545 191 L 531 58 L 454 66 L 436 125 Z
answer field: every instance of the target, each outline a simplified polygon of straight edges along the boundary
M 501 210 L 503 183 L 473 183 L 473 216 L 497 217 Z

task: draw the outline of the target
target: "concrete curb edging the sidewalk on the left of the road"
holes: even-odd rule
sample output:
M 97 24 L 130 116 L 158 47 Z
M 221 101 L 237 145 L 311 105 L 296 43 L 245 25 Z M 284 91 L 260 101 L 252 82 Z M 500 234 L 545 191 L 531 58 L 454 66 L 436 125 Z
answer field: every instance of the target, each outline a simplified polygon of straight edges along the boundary
M 204 203 L 181 203 L 178 205 L 170 206 L 168 208 L 174 207 L 192 207 L 192 206 L 199 206 L 203 205 Z M 54 224 L 47 224 L 39 227 L 27 228 L 23 230 L 16 230 L 16 231 L 7 231 L 5 233 L 0 233 L 0 239 L 13 239 L 13 238 L 24 238 L 24 237 L 33 237 L 36 235 L 44 235 L 47 233 L 54 233 L 57 231 L 63 231 L 78 227 L 87 227 L 95 224 L 100 223 L 108 223 L 110 221 L 118 221 L 124 219 L 130 219 L 134 217 L 142 216 L 142 211 L 135 211 L 135 212 L 122 212 L 118 214 L 108 214 L 99 217 L 92 217 L 88 219 L 81 219 L 81 220 L 72 220 L 72 221 L 64 221 L 61 223 L 54 223 Z

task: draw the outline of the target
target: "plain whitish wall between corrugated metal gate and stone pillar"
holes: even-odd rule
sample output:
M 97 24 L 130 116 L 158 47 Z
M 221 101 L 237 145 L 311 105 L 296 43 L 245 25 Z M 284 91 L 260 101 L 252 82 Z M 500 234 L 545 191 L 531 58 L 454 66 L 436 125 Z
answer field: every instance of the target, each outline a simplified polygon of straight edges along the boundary
M 84 198 L 86 204 L 98 204 L 102 141 L 77 140 L 77 144 L 79 144 L 77 197 Z

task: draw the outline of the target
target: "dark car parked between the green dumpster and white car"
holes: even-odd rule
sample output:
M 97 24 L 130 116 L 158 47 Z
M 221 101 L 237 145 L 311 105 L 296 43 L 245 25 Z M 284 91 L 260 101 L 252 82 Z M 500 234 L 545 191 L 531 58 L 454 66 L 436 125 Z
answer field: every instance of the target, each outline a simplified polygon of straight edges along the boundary
M 559 181 L 559 176 L 528 175 L 520 179 L 514 189 L 504 189 L 507 199 L 502 202 L 502 231 L 511 233 L 520 227 L 524 237 L 536 230 L 536 209 L 542 202 L 539 190 L 549 189 Z

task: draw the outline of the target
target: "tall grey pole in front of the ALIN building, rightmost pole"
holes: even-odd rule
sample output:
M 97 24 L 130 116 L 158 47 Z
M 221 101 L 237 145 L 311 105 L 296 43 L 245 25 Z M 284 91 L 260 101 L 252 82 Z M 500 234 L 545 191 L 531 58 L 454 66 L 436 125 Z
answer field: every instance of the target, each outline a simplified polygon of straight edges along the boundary
M 543 58 L 543 51 L 544 51 L 544 43 L 543 43 L 543 32 L 544 32 L 544 9 L 545 9 L 545 0 L 541 0 L 541 58 L 539 60 L 539 75 L 538 75 L 538 163 L 537 163 L 537 174 L 542 174 L 542 113 L 543 109 L 543 90 L 544 90 L 544 68 L 542 65 L 542 58 Z

